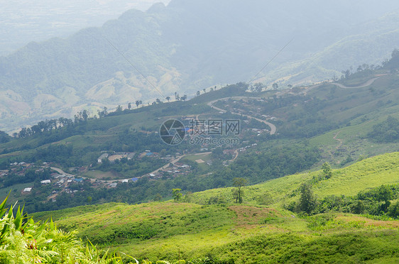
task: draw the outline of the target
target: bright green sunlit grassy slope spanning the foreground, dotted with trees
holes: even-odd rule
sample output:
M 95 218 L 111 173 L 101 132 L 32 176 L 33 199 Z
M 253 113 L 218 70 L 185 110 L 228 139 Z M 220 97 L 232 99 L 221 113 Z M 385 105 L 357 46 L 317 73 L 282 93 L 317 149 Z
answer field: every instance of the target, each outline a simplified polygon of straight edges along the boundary
M 362 160 L 335 170 L 319 182 L 315 193 L 352 195 L 361 189 L 399 182 L 399 153 Z M 281 205 L 299 185 L 320 172 L 290 175 L 246 187 L 245 204 L 231 203 L 231 188 L 192 194 L 193 203 L 102 204 L 42 212 L 35 219 L 53 219 L 80 236 L 104 239 L 137 258 L 174 260 L 214 255 L 236 263 L 394 263 L 399 260 L 399 221 L 376 221 L 352 214 L 317 215 L 300 219 Z M 256 202 L 268 192 L 269 207 Z M 209 197 L 224 196 L 228 205 L 200 205 Z M 293 198 L 295 199 L 295 198 Z M 143 226 L 145 227 L 143 229 Z M 149 229 L 148 229 L 149 228 Z M 126 238 L 125 233 L 155 231 L 151 238 Z M 119 235 L 118 235 L 119 234 Z

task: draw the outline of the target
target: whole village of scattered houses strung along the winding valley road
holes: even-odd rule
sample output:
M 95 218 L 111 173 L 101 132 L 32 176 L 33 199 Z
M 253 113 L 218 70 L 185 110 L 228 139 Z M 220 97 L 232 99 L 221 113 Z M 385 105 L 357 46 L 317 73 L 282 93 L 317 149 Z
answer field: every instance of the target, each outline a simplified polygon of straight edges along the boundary
M 234 105 L 236 101 L 232 102 Z M 248 108 L 251 106 L 247 105 Z M 236 109 L 231 105 L 226 104 L 227 109 L 231 111 L 238 111 L 242 114 L 255 114 L 253 111 Z M 263 119 L 275 120 L 270 116 L 260 116 Z M 193 116 L 182 116 L 183 121 L 193 120 Z M 248 125 L 250 121 L 244 119 L 244 124 Z M 246 141 L 242 141 L 239 145 L 207 145 L 202 144 L 198 148 L 198 153 L 187 153 L 187 150 L 183 153 L 161 154 L 151 150 L 144 150 L 141 153 L 136 152 L 115 152 L 112 150 L 103 150 L 101 155 L 97 158 L 97 163 L 93 163 L 82 167 L 70 167 L 67 169 L 60 169 L 58 165 L 53 163 L 43 162 L 41 164 L 36 163 L 11 163 L 9 170 L 0 170 L 0 180 L 6 179 L 7 177 L 25 177 L 29 171 L 34 171 L 36 174 L 43 172 L 44 170 L 50 170 L 48 177 L 40 179 L 40 185 L 38 179 L 27 182 L 27 179 L 23 179 L 25 183 L 24 187 L 20 190 L 21 195 L 28 195 L 35 191 L 38 186 L 43 186 L 51 189 L 51 194 L 48 196 L 49 201 L 56 201 L 56 197 L 61 193 L 74 194 L 76 192 L 84 191 L 85 186 L 94 188 L 115 188 L 119 185 L 134 183 L 143 177 L 148 177 L 149 180 L 167 180 L 183 175 L 189 175 L 192 173 L 192 166 L 186 164 L 184 161 L 187 157 L 192 157 L 191 160 L 197 165 L 213 166 L 214 158 L 212 158 L 212 151 L 216 148 L 222 148 L 222 165 L 228 166 L 238 158 L 239 153 L 245 153 L 248 148 L 256 147 L 257 143 L 250 143 L 251 138 L 261 136 L 264 133 L 270 133 L 267 128 L 251 128 L 246 126 L 242 129 L 243 133 L 246 134 Z M 244 139 L 244 135 L 241 134 L 240 138 Z M 196 157 L 197 155 L 197 157 Z M 204 158 L 206 157 L 206 158 Z M 158 160 L 158 164 L 164 164 L 161 167 L 154 168 L 155 170 L 144 173 L 143 175 L 131 175 L 131 177 L 123 177 L 123 175 L 116 175 L 114 177 L 102 177 L 106 172 L 99 170 L 102 164 L 108 163 L 110 165 L 118 165 L 122 160 L 124 162 L 129 160 L 137 160 L 138 163 L 142 160 Z

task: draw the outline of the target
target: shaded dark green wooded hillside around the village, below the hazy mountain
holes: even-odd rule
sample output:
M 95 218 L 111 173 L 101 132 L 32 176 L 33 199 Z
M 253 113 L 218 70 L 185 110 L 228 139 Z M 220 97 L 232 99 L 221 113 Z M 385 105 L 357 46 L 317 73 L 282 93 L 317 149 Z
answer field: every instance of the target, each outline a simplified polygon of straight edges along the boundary
M 173 188 L 186 193 L 231 187 L 235 177 L 245 177 L 255 185 L 319 170 L 325 162 L 342 168 L 356 160 L 397 151 L 397 57 L 394 52 L 393 59 L 386 62 L 393 73 L 387 73 L 392 69 L 385 67 L 359 70 L 337 84 L 248 92 L 253 90 L 251 85 L 241 82 L 202 91 L 188 101 L 159 101 L 109 112 L 104 109 L 96 118 L 80 112 L 74 120 L 41 121 L 14 138 L 4 137 L 0 144 L 0 170 L 7 175 L 0 177 L 0 194 L 5 197 L 13 189 L 10 201 L 25 203 L 31 212 L 89 203 L 148 202 L 170 197 Z M 237 117 L 241 132 L 236 145 L 196 144 L 188 136 L 180 145 L 170 146 L 158 134 L 168 119 L 185 120 L 190 128 L 194 119 Z M 270 135 L 270 127 L 253 117 L 272 123 L 277 133 Z M 155 155 L 147 158 L 146 150 Z M 197 156 L 202 152 L 212 155 L 202 160 Z M 99 163 L 102 153 L 119 158 L 126 153 L 135 156 Z M 185 155 L 180 163 L 190 170 L 170 169 L 168 160 L 179 155 Z M 53 179 L 53 184 L 45 187 L 40 180 L 48 180 L 54 171 L 35 172 L 43 169 L 43 162 L 45 167 L 57 167 L 83 182 L 70 185 L 74 188 L 70 189 Z M 28 173 L 26 166 L 31 167 L 29 177 L 23 177 Z M 160 167 L 164 167 L 163 173 L 153 180 L 151 172 Z M 175 171 L 180 173 L 175 175 Z M 132 178 L 137 181 L 129 182 Z M 128 183 L 120 185 L 125 179 Z M 119 187 L 109 189 L 112 181 Z M 26 187 L 35 187 L 33 193 L 23 193 Z

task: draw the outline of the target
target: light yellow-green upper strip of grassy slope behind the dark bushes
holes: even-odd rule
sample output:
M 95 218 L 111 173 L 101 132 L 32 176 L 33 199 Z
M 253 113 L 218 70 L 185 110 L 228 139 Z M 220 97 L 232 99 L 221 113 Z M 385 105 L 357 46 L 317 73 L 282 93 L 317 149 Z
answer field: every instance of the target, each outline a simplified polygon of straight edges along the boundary
M 259 185 L 246 187 L 246 202 L 256 204 L 256 198 L 268 193 L 274 199 L 275 204 L 288 202 L 292 194 L 302 182 L 319 175 L 320 171 L 308 172 L 281 177 L 263 182 Z M 334 170 L 334 175 L 329 180 L 319 182 L 315 187 L 315 194 L 325 197 L 331 194 L 354 195 L 362 189 L 378 187 L 383 184 L 399 182 L 399 153 L 379 155 L 359 163 Z M 205 204 L 210 197 L 225 197 L 231 199 L 232 188 L 210 189 L 204 192 L 192 194 L 192 201 Z

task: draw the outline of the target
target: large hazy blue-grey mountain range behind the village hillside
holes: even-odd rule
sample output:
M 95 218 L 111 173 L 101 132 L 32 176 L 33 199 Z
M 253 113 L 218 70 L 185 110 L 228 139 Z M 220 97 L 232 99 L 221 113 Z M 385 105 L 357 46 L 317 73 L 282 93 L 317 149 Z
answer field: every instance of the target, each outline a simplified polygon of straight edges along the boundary
M 163 99 L 153 85 L 165 96 L 190 96 L 211 85 L 248 81 L 292 38 L 257 81 L 311 83 L 339 75 L 388 57 L 398 38 L 398 13 L 380 17 L 396 5 L 175 0 L 126 11 L 100 28 L 32 42 L 0 57 L 0 129 Z

